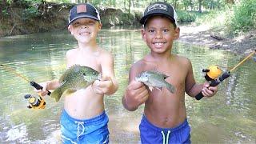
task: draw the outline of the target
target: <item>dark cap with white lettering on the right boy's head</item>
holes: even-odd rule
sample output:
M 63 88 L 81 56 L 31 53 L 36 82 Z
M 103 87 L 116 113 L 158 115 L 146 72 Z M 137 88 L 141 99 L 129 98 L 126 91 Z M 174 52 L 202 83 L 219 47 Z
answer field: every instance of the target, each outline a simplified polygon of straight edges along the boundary
M 143 17 L 139 21 L 142 25 L 146 24 L 146 20 L 154 15 L 163 15 L 169 18 L 171 22 L 177 25 L 177 14 L 173 6 L 166 2 L 154 2 L 146 7 Z

